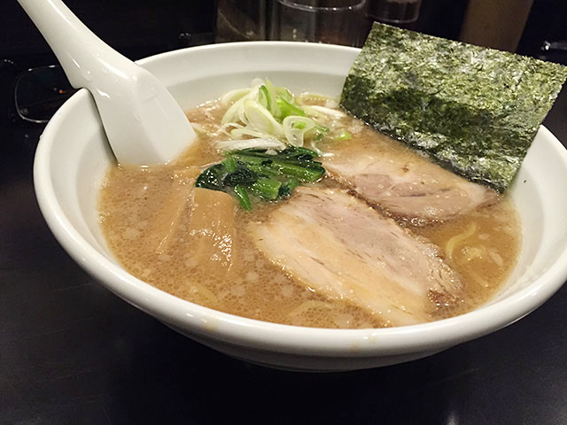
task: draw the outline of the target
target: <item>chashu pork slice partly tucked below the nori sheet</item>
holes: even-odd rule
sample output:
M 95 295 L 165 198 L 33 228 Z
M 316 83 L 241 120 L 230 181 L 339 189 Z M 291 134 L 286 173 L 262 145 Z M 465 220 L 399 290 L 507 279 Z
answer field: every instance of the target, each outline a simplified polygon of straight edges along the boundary
M 323 166 L 369 205 L 416 225 L 451 220 L 498 197 L 414 152 L 384 155 L 355 141 L 323 160 Z

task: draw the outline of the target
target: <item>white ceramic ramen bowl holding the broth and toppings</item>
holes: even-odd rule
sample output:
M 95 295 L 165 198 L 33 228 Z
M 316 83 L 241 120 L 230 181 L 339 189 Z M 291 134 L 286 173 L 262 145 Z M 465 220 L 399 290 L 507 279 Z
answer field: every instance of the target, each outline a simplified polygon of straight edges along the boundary
M 189 109 L 254 77 L 295 92 L 337 96 L 359 50 L 324 44 L 245 42 L 177 50 L 139 61 Z M 120 298 L 182 334 L 231 356 L 299 370 L 350 370 L 418 359 L 517 321 L 567 276 L 567 153 L 540 128 L 511 188 L 524 226 L 509 282 L 477 310 L 401 328 L 299 328 L 219 313 L 175 298 L 128 274 L 105 247 L 97 190 L 113 155 L 82 90 L 50 120 L 35 156 L 35 189 L 45 220 L 66 251 Z

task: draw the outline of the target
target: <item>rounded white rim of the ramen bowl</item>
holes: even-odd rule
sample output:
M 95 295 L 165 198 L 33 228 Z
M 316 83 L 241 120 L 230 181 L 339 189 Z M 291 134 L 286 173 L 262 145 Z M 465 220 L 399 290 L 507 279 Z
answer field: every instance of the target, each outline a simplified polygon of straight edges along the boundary
M 190 55 L 197 50 L 258 49 L 358 50 L 346 46 L 299 42 L 230 42 L 168 51 L 137 61 L 144 66 L 163 58 Z M 567 276 L 567 247 L 557 260 L 529 287 L 448 319 L 396 328 L 334 329 L 307 328 L 248 319 L 197 305 L 159 290 L 128 274 L 92 247 L 73 227 L 61 205 L 50 178 L 50 151 L 58 128 L 65 125 L 68 112 L 87 102 L 89 92 L 79 90 L 54 114 L 43 131 L 35 152 L 34 184 L 38 204 L 50 230 L 69 255 L 89 274 L 120 298 L 146 313 L 196 336 L 225 344 L 255 347 L 262 351 L 311 356 L 376 357 L 379 355 L 439 350 L 483 336 L 521 319 L 559 290 Z M 567 151 L 547 128 L 542 136 L 567 168 Z

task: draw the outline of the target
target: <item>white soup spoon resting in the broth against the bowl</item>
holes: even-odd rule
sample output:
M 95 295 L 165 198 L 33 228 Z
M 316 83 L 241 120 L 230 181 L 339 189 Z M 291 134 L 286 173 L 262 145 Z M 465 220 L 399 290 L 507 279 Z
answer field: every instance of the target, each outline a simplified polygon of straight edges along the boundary
M 144 68 L 102 42 L 60 0 L 18 0 L 75 89 L 89 89 L 120 164 L 167 163 L 195 132 L 174 97 Z

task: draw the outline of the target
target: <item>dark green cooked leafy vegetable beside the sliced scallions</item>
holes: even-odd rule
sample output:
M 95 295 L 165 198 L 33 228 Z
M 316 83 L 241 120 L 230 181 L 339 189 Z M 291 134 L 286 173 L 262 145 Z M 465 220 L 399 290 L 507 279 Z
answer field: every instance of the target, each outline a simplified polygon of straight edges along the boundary
M 317 153 L 301 147 L 279 152 L 245 149 L 225 156 L 221 164 L 201 173 L 195 186 L 232 194 L 245 210 L 252 209 L 249 195 L 270 201 L 289 197 L 300 182 L 317 182 L 325 173 L 314 160 Z

